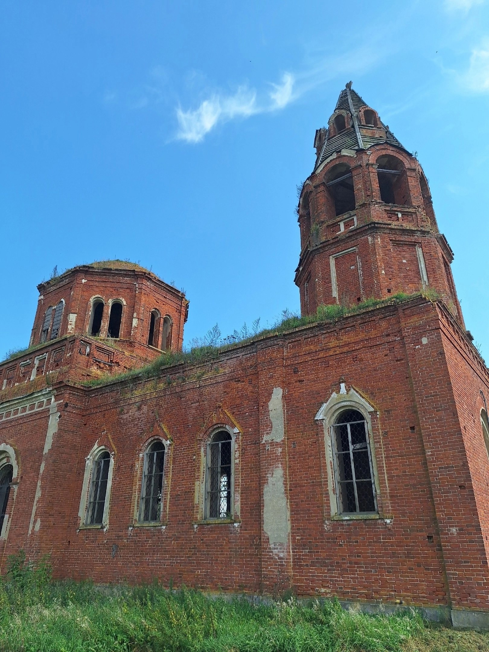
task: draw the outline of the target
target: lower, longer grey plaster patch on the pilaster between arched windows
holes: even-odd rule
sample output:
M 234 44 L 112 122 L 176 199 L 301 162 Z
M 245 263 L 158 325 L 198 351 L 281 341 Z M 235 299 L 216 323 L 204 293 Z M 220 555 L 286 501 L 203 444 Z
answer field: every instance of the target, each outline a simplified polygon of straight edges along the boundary
M 276 467 L 263 488 L 263 529 L 275 554 L 284 556 L 289 539 L 289 510 L 284 488 L 284 471 Z

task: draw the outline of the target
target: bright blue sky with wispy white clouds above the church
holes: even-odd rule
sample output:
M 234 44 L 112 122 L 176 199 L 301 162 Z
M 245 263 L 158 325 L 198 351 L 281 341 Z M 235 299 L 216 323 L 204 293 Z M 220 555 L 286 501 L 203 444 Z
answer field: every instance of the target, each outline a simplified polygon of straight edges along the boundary
M 3 0 L 0 57 L 0 356 L 55 265 L 152 269 L 187 343 L 299 310 L 296 186 L 353 80 L 418 153 L 489 360 L 489 0 Z

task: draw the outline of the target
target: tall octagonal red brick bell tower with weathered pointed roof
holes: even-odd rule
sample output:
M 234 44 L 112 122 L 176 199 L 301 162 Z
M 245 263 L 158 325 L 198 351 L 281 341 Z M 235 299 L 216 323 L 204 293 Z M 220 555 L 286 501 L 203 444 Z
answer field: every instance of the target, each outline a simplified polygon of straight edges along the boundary
M 298 207 L 302 314 L 433 288 L 463 326 L 453 252 L 439 233 L 421 165 L 351 82 L 328 126 L 316 130 L 314 147 Z

